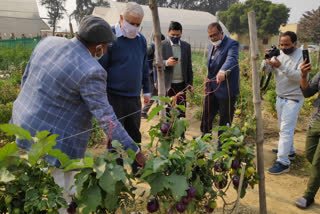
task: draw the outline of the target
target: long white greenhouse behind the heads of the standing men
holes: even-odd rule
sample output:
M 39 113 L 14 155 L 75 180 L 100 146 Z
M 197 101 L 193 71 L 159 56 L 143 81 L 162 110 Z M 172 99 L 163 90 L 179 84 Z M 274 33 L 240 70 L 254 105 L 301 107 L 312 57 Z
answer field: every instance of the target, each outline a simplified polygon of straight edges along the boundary
M 110 8 L 96 7 L 93 15 L 104 18 L 110 25 L 114 25 L 119 21 L 120 13 L 125 3 L 110 2 Z M 153 31 L 152 14 L 149 6 L 142 5 L 144 10 L 144 18 L 141 25 L 141 32 L 150 41 Z M 208 45 L 207 27 L 211 22 L 215 22 L 217 18 L 202 11 L 192 11 L 184 9 L 173 9 L 159 7 L 159 17 L 161 32 L 166 35 L 170 21 L 177 21 L 182 24 L 182 39 L 189 42 L 193 48 L 203 48 Z M 229 35 L 227 28 L 220 22 L 223 31 Z

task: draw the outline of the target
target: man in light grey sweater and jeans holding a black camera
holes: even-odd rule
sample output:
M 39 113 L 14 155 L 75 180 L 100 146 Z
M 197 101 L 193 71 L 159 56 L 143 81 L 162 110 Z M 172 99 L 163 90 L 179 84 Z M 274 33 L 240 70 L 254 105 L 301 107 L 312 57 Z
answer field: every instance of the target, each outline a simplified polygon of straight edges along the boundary
M 280 136 L 276 163 L 268 170 L 270 174 L 289 172 L 290 160 L 295 158 L 293 146 L 294 128 L 303 105 L 300 90 L 302 50 L 297 48 L 297 35 L 287 31 L 280 36 L 280 51 L 272 47 L 265 52 L 262 67 L 274 71 L 276 78 L 276 109 Z

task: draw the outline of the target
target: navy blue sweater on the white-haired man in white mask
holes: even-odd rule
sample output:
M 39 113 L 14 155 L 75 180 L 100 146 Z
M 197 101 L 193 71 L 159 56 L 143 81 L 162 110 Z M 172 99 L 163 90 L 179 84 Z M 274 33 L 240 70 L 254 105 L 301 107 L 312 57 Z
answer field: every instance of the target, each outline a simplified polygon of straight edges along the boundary
M 99 62 L 108 73 L 108 93 L 140 96 L 142 87 L 143 93 L 150 93 L 147 42 L 142 34 L 134 39 L 118 37 Z

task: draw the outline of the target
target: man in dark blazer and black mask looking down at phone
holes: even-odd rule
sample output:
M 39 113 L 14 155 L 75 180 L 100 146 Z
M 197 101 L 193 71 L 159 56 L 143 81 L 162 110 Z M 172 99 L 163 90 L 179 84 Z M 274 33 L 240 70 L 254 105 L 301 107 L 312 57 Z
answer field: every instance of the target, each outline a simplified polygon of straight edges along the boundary
M 192 90 L 193 71 L 191 62 L 191 47 L 181 40 L 182 26 L 172 21 L 168 30 L 168 39 L 162 41 L 162 57 L 165 64 L 164 79 L 167 96 L 177 97 L 177 104 L 186 106 L 186 89 Z M 179 117 L 185 117 L 180 112 Z

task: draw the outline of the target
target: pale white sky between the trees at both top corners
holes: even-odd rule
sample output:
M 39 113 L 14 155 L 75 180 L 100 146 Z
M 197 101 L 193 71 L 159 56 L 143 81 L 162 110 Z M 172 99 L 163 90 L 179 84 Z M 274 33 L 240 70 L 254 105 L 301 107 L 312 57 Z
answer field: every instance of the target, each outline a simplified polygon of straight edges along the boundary
M 240 0 L 240 2 L 244 2 L 245 0 Z M 46 15 L 46 9 L 39 4 L 38 2 L 38 8 L 40 17 L 44 18 L 47 17 Z M 306 11 L 317 9 L 320 6 L 320 0 L 271 0 L 272 3 L 275 4 L 284 4 L 288 8 L 290 8 L 290 16 L 288 20 L 288 24 L 298 23 L 300 18 L 302 17 L 302 14 Z M 76 0 L 66 0 L 66 9 L 68 13 L 71 13 L 76 7 Z M 77 31 L 76 22 L 72 21 L 74 31 Z M 58 23 L 59 31 L 65 31 L 69 30 L 69 21 L 67 16 Z

